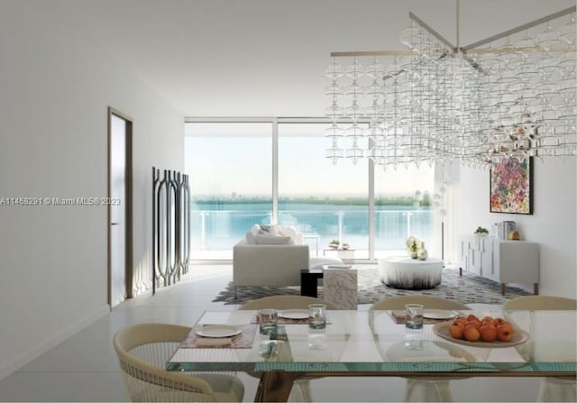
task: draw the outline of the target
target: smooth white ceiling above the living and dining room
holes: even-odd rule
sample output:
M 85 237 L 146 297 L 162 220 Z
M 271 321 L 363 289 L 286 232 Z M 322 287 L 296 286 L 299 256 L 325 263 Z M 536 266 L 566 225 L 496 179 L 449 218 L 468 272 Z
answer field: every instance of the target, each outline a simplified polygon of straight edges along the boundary
M 322 116 L 331 51 L 403 50 L 412 11 L 456 43 L 457 0 L 50 0 L 186 116 Z M 461 0 L 466 45 L 574 0 Z

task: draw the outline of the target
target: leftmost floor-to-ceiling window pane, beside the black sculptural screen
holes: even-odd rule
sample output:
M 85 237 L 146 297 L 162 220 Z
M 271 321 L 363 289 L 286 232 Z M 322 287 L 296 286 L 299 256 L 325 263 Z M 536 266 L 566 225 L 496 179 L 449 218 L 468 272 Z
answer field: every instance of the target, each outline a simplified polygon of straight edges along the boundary
M 270 122 L 186 125 L 193 259 L 232 259 L 253 224 L 270 223 L 271 133 Z

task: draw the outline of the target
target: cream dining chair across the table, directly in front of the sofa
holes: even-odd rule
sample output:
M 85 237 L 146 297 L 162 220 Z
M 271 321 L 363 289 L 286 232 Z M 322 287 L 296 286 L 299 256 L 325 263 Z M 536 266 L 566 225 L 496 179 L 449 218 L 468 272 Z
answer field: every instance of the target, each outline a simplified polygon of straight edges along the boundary
M 325 301 L 324 299 L 307 296 L 295 296 L 295 295 L 279 295 L 279 296 L 270 296 L 259 299 L 253 299 L 252 301 L 249 301 L 246 304 L 244 304 L 242 307 L 239 307 L 239 309 L 242 310 L 256 310 L 265 308 L 274 308 L 279 310 L 308 309 L 309 304 L 325 304 L 327 309 L 337 309 L 337 307 L 335 307 L 330 302 Z M 252 372 L 249 374 L 252 375 L 253 377 L 261 376 L 260 373 L 256 372 Z M 310 389 L 311 379 L 314 378 L 295 380 L 293 388 L 290 390 L 289 401 L 302 401 L 302 402 L 313 401 Z

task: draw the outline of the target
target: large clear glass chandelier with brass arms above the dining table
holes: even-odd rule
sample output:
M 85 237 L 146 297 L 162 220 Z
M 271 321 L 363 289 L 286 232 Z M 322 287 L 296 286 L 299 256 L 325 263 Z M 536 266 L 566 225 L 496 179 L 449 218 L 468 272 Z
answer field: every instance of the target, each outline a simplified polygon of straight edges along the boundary
M 415 14 L 404 51 L 333 52 L 326 157 L 408 166 L 577 156 L 575 9 L 461 47 Z

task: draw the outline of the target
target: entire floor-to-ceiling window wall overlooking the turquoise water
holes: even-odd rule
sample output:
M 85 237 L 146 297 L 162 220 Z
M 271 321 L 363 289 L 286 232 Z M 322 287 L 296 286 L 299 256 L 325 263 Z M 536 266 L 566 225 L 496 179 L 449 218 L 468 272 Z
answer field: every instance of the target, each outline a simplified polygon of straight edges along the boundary
M 325 158 L 322 119 L 220 119 L 186 124 L 192 259 L 232 259 L 253 224 L 304 234 L 311 255 L 348 243 L 357 260 L 404 252 L 407 236 L 432 245 L 434 169 L 383 170 L 371 160 Z M 374 195 L 374 197 L 371 197 Z

